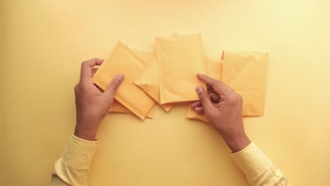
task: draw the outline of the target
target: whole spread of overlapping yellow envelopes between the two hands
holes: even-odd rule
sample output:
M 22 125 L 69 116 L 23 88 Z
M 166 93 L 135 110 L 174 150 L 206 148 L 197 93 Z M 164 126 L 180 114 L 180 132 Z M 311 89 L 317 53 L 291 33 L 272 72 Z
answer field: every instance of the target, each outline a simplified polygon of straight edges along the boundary
M 99 67 L 93 81 L 106 89 L 118 73 L 125 75 L 110 111 L 153 118 L 155 105 L 170 111 L 178 102 L 199 100 L 195 88 L 204 73 L 229 85 L 243 97 L 243 116 L 262 116 L 267 75 L 267 53 L 223 51 L 219 60 L 204 56 L 202 35 L 157 37 L 155 52 L 130 49 L 121 42 Z M 187 118 L 208 122 L 188 106 Z

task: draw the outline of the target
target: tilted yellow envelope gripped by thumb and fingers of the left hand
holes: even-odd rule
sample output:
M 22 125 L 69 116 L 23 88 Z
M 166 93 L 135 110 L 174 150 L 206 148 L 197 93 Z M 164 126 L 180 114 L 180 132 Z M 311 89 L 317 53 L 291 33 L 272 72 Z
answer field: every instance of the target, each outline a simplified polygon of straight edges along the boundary
M 106 89 L 114 76 L 123 73 L 125 79 L 114 98 L 135 113 L 136 116 L 145 119 L 155 101 L 133 84 L 133 80 L 142 73 L 145 66 L 146 64 L 141 58 L 130 51 L 123 43 L 118 42 L 109 58 L 106 58 L 97 73 L 95 73 L 93 81 L 102 89 Z

